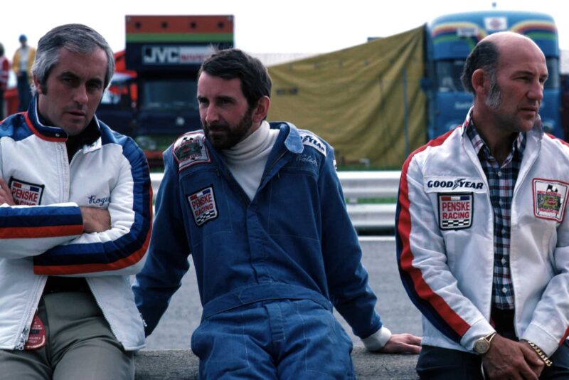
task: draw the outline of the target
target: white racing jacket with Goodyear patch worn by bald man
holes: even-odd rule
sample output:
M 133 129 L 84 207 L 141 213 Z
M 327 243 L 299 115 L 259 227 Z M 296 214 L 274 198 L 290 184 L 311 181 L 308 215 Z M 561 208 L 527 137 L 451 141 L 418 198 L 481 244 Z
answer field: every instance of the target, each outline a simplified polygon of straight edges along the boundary
M 396 216 L 400 275 L 423 315 L 422 344 L 462 351 L 494 332 L 494 211 L 468 122 L 405 161 Z M 511 206 L 514 325 L 551 356 L 569 334 L 569 147 L 538 127 L 526 137 Z

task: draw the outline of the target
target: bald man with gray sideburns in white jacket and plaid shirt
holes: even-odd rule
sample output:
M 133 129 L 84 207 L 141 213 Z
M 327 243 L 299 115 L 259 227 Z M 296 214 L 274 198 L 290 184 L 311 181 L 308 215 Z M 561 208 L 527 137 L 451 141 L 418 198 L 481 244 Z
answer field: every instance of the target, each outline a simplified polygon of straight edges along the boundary
M 467 58 L 464 124 L 403 165 L 400 275 L 421 379 L 569 379 L 569 147 L 538 115 L 546 58 L 494 33 Z

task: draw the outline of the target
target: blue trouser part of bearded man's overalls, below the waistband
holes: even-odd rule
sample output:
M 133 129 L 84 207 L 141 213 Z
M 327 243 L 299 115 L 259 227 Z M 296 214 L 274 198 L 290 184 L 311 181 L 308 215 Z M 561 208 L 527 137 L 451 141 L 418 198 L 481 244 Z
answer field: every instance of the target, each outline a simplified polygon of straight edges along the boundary
M 351 349 L 331 311 L 308 300 L 228 310 L 192 335 L 201 379 L 353 379 Z

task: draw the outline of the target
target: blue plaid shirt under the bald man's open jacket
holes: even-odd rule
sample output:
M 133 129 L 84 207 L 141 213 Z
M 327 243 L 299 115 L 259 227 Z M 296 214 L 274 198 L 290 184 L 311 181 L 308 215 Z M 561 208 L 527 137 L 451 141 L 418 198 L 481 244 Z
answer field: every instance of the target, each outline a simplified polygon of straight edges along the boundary
M 526 134 L 519 133 L 512 143 L 512 150 L 501 164 L 491 156 L 474 122 L 466 130 L 474 150 L 478 154 L 488 185 L 490 201 L 494 209 L 494 280 L 492 303 L 501 310 L 514 309 L 514 287 L 510 278 L 510 227 L 511 199 L 520 171 L 523 150 L 526 148 Z

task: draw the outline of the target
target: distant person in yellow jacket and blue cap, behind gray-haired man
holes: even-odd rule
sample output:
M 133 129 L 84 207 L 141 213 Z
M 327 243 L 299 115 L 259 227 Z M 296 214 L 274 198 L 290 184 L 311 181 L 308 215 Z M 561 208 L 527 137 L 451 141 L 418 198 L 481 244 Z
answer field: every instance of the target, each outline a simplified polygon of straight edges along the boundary
M 36 57 L 36 49 L 28 46 L 28 38 L 22 34 L 19 38 L 20 47 L 16 49 L 12 59 L 12 70 L 16 74 L 18 88 L 18 112 L 28 109 L 31 100 L 31 65 Z

